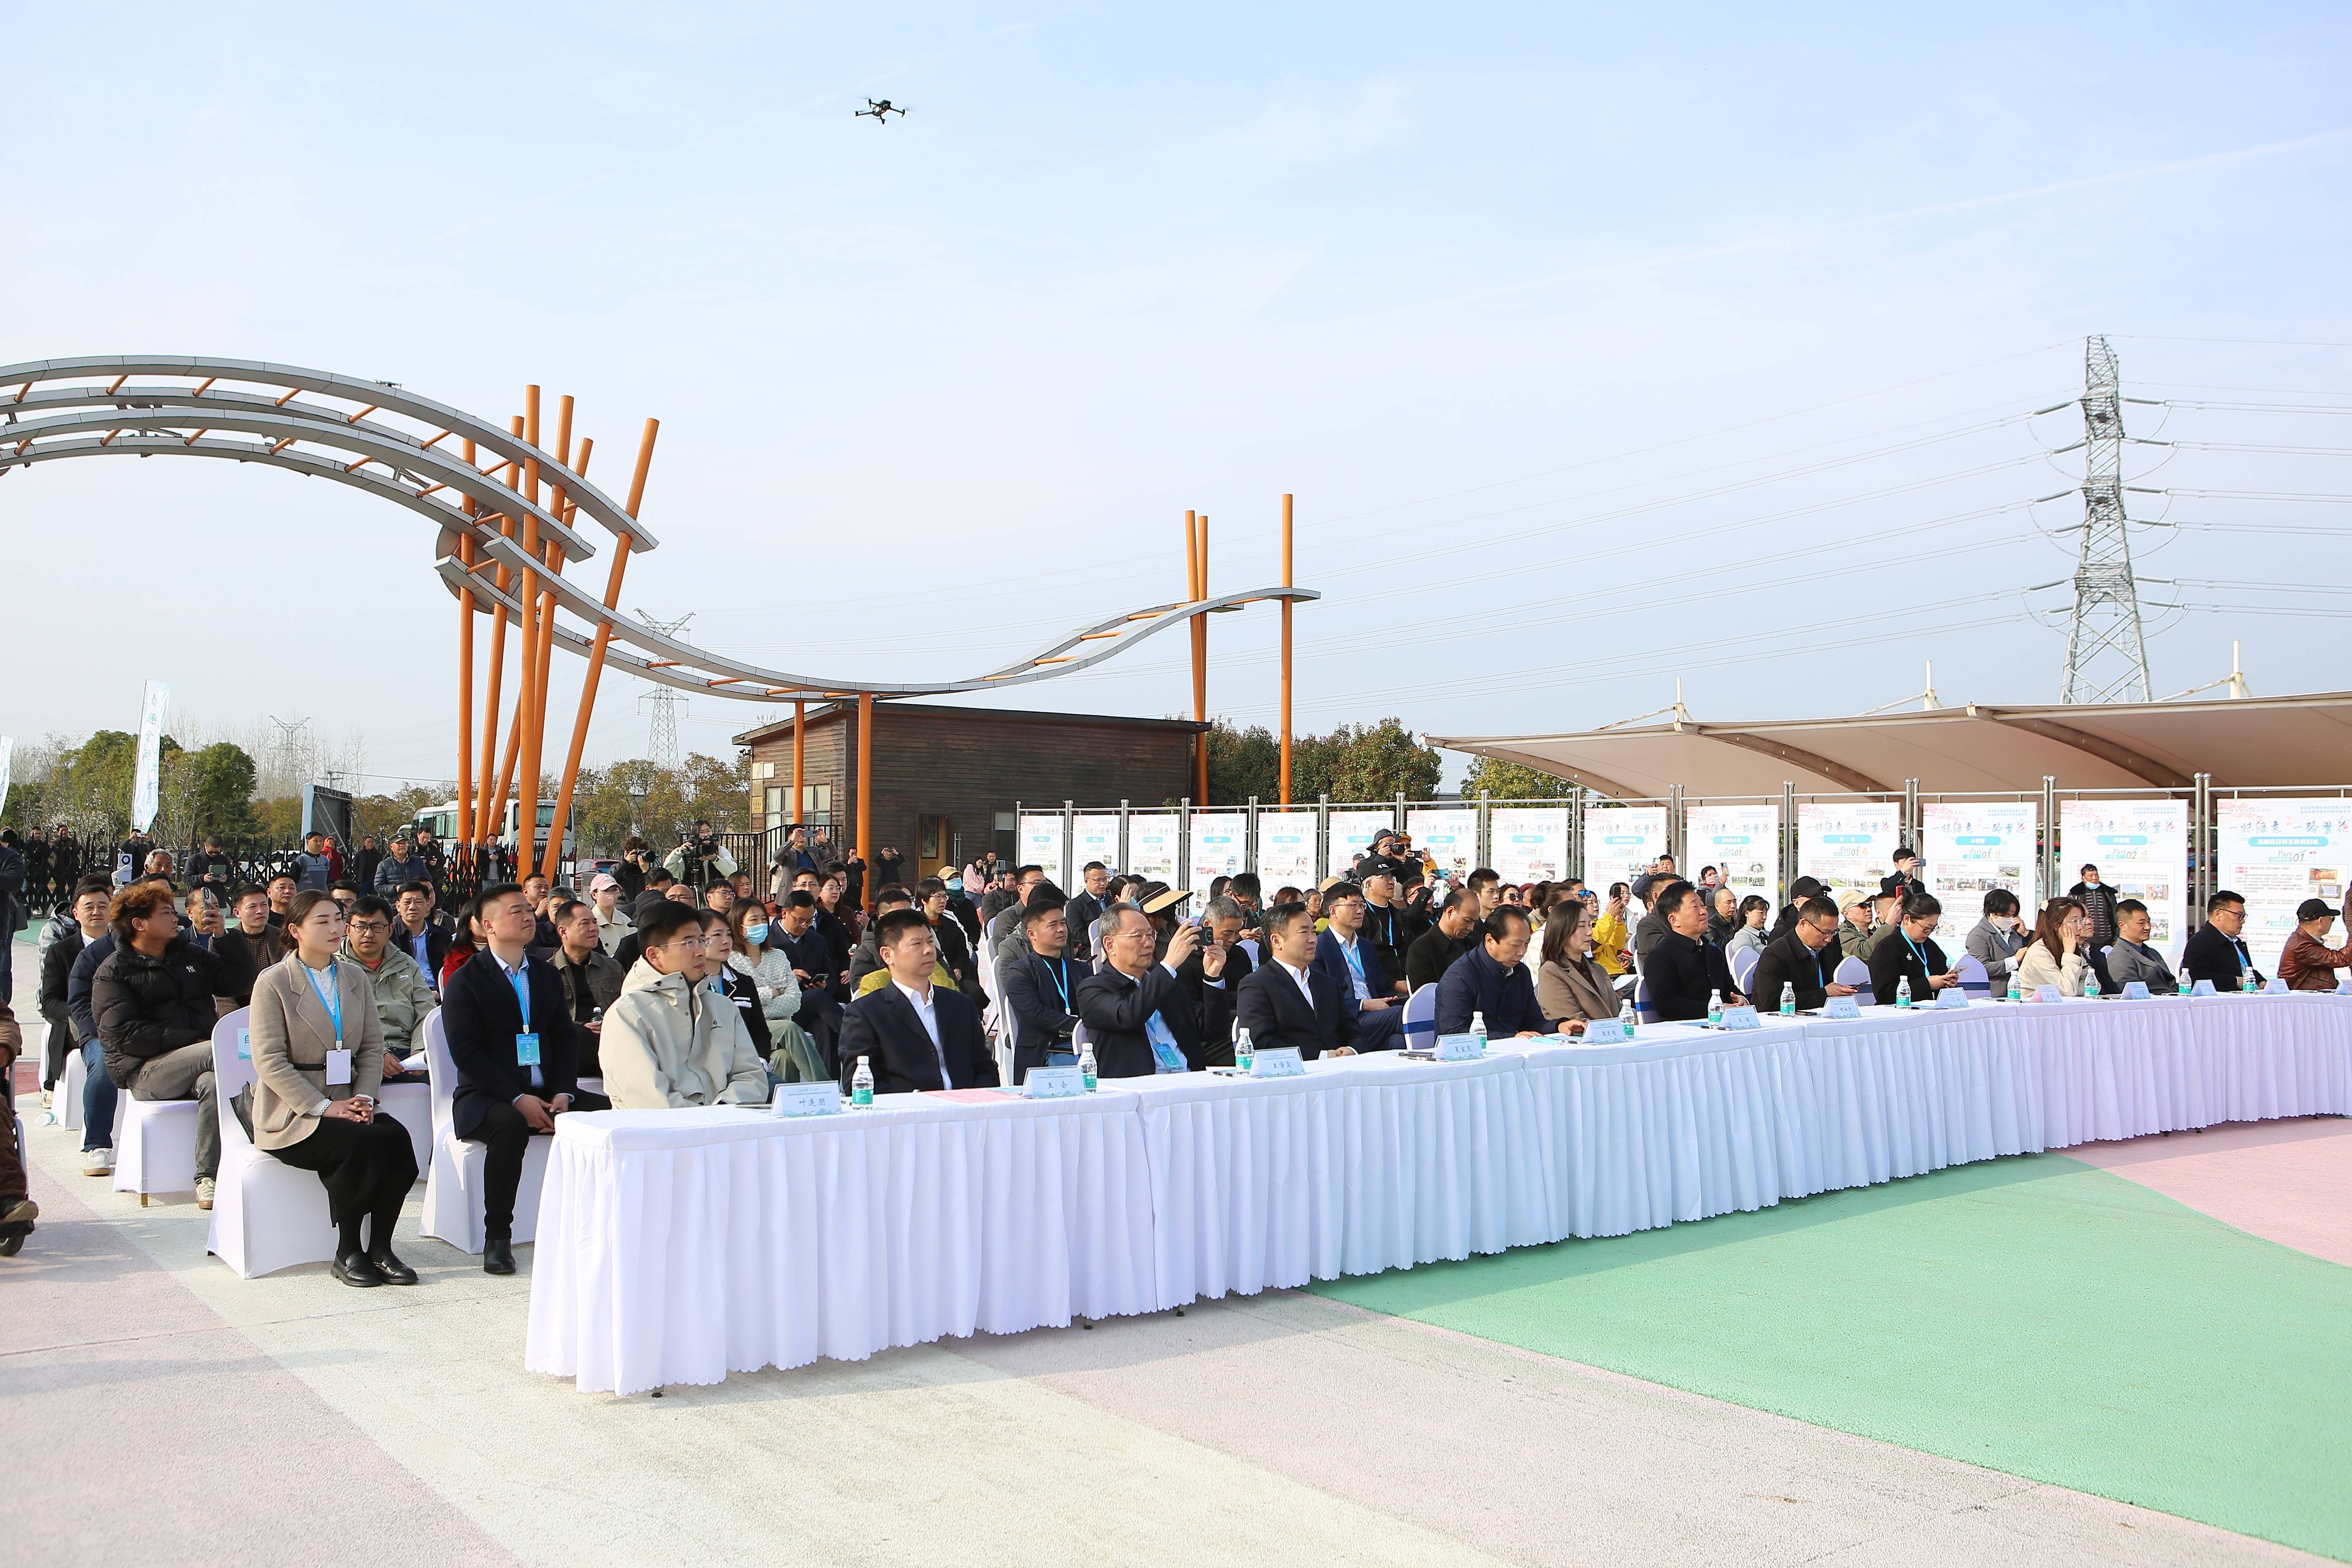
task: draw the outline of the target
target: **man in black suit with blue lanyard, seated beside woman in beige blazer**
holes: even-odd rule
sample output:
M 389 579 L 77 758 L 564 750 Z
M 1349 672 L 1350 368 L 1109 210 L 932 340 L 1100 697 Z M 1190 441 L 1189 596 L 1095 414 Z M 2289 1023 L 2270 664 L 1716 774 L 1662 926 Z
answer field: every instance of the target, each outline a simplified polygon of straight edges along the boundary
M 489 947 L 449 976 L 442 1034 L 456 1065 L 449 1107 L 459 1138 L 489 1145 L 482 1161 L 482 1272 L 515 1272 L 515 1190 L 536 1133 L 553 1133 L 569 1110 L 612 1110 L 579 1091 L 581 1027 L 572 1023 L 564 978 L 529 957 L 539 917 L 513 882 L 485 889 L 475 919 Z

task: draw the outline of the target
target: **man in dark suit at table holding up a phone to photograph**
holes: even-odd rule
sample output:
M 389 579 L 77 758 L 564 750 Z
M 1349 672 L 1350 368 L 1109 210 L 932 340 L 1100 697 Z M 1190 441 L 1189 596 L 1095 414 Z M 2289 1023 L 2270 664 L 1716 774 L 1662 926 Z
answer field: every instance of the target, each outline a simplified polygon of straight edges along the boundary
M 1105 1079 L 1155 1072 L 1202 1072 L 1232 1060 L 1232 992 L 1225 954 L 1202 947 L 1200 926 L 1185 922 L 1169 938 L 1167 959 L 1152 961 L 1152 917 L 1134 905 L 1103 912 L 1101 973 L 1077 987 L 1077 1016 L 1094 1039 L 1094 1067 Z M 1200 1001 L 1176 971 L 1200 952 Z

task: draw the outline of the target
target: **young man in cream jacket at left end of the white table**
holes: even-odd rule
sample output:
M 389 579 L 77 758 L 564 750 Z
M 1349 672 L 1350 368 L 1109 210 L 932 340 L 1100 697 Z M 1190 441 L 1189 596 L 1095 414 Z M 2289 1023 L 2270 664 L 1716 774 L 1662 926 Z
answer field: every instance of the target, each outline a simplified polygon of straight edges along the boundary
M 642 957 L 604 1009 L 597 1058 L 614 1110 L 767 1105 L 767 1065 L 734 1001 L 713 997 L 701 914 L 659 903 L 637 924 Z

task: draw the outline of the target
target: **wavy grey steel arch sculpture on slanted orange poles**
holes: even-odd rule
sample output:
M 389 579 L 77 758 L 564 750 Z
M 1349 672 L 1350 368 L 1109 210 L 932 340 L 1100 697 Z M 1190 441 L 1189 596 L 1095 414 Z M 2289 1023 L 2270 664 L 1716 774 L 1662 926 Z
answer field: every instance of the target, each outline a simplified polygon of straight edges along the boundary
M 181 386 L 186 381 L 195 386 Z M 14 388 L 14 395 L 7 395 L 7 388 Z M 360 407 L 346 411 L 336 404 Z M 597 679 L 607 663 L 647 682 L 739 701 L 804 703 L 854 696 L 861 717 L 870 717 L 875 698 L 1021 686 L 1087 670 L 1178 621 L 1195 625 L 1197 651 L 1202 646 L 1200 628 L 1207 625 L 1204 618 L 1211 611 L 1268 599 L 1282 602 L 1287 616 L 1294 602 L 1319 597 L 1289 583 L 1214 597 L 1204 588 L 1195 588 L 1197 597 L 1110 616 L 1070 632 L 1030 658 L 946 682 L 849 682 L 764 670 L 675 642 L 619 611 L 621 574 L 630 550 L 652 550 L 659 543 L 637 522 L 659 423 L 644 421 L 630 494 L 626 503 L 619 503 L 586 477 L 593 442 L 583 440 L 576 454 L 572 449 L 572 400 L 562 400 L 553 451 L 539 444 L 536 386 L 527 388 L 524 404 L 524 416 L 499 428 L 390 381 L 261 360 L 181 355 L 28 360 L 0 367 L 0 477 L 35 463 L 85 456 L 195 456 L 261 463 L 334 480 L 435 522 L 440 527 L 435 571 L 461 607 L 459 823 L 463 839 L 487 842 L 494 837 L 492 823 L 506 816 L 506 792 L 517 764 L 524 778 L 539 778 L 553 649 L 562 646 L 588 658 L 588 679 L 581 686 L 555 823 L 548 832 L 543 870 L 550 875 L 572 809 L 572 788 L 588 738 Z M 421 435 L 409 425 L 428 428 L 433 435 Z M 459 456 L 442 451 L 452 437 L 461 447 Z M 482 468 L 477 451 L 503 461 Z M 546 503 L 539 496 L 541 484 L 550 487 Z M 456 501 L 442 496 L 456 496 Z M 614 543 L 602 597 L 581 590 L 562 574 L 567 562 L 597 552 L 595 543 L 574 527 L 583 512 Z M 1284 552 L 1284 576 L 1289 576 L 1287 562 Z M 1200 564 L 1195 559 L 1195 567 Z M 1192 581 L 1202 583 L 1204 571 L 1197 571 Z M 588 623 L 593 632 L 583 635 L 557 625 L 557 609 Z M 492 616 L 492 656 L 480 788 L 473 790 L 473 618 L 477 614 Z M 508 618 L 522 635 L 522 679 L 506 759 L 494 769 Z M 1284 646 L 1289 646 L 1287 635 Z M 614 642 L 626 642 L 635 651 L 616 651 Z M 861 736 L 866 733 L 868 726 L 861 724 Z M 866 776 L 868 771 L 861 766 L 861 795 Z M 468 811 L 468 804 L 477 809 Z M 861 839 L 863 832 L 861 802 Z

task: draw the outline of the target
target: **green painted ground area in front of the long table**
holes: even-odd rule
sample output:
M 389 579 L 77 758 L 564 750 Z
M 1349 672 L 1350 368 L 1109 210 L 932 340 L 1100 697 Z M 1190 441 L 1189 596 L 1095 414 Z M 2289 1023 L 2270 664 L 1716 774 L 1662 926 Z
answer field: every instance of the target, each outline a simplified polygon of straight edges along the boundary
M 2352 1269 L 2063 1154 L 1315 1288 L 2352 1561 Z

